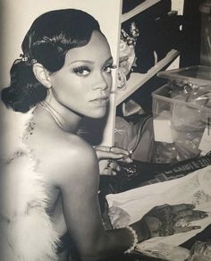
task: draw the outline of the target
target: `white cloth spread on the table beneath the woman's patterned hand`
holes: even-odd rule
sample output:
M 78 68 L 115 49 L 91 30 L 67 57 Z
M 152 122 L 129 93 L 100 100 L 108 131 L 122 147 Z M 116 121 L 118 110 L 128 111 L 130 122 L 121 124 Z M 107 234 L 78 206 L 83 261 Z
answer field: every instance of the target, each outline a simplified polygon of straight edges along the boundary
M 122 208 L 127 212 L 131 219 L 128 224 L 138 221 L 143 215 L 154 206 L 163 204 L 176 205 L 181 203 L 193 204 L 196 209 L 207 211 L 207 218 L 192 222 L 191 225 L 199 225 L 200 229 L 191 232 L 174 234 L 163 238 L 154 238 L 146 240 L 139 244 L 139 249 L 152 248 L 157 244 L 168 244 L 178 246 L 182 242 L 189 240 L 198 232 L 203 231 L 211 223 L 211 166 L 200 169 L 194 173 L 176 179 L 165 181 L 138 189 L 131 189 L 119 194 L 110 194 L 106 196 L 108 205 L 113 209 Z M 118 211 L 120 213 L 120 211 Z M 115 217 L 115 225 L 121 223 L 121 216 Z M 125 224 L 125 225 L 128 225 Z

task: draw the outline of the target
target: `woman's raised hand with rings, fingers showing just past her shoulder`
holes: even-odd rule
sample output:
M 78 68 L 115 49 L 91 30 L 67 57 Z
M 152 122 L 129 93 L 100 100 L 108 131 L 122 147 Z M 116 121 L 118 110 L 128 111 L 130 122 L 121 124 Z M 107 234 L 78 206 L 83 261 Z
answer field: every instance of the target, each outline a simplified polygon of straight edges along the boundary
M 99 173 L 101 175 L 116 175 L 120 171 L 117 161 L 131 163 L 131 154 L 127 150 L 120 147 L 94 147 L 99 161 Z

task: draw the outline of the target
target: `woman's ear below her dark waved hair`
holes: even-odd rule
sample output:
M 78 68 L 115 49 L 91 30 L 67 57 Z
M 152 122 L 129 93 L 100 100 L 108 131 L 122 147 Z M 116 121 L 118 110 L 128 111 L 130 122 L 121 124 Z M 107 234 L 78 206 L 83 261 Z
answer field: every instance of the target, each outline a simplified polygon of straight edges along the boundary
M 42 85 L 46 86 L 46 88 L 51 88 L 51 82 L 49 80 L 49 72 L 46 68 L 43 67 L 41 63 L 35 63 L 33 65 L 33 72 L 35 77 Z

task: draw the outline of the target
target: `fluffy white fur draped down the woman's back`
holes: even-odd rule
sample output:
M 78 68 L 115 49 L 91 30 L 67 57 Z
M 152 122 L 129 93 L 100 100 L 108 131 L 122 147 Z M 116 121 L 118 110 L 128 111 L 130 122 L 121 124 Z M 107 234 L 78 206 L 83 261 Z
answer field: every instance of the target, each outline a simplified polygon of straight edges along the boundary
M 57 260 L 59 234 L 46 213 L 46 173 L 22 142 L 32 113 L 0 102 L 0 260 Z

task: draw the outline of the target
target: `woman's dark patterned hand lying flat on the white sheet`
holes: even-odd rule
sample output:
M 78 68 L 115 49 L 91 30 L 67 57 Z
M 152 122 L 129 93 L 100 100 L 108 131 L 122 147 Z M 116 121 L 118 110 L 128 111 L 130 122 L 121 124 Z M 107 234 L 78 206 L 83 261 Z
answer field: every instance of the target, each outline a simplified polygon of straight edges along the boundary
M 190 232 L 200 226 L 191 226 L 191 221 L 207 217 L 204 211 L 194 210 L 191 204 L 155 206 L 142 220 L 147 223 L 149 238 L 165 237 L 181 232 Z

